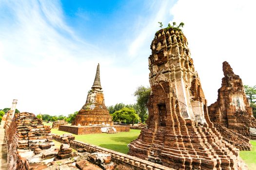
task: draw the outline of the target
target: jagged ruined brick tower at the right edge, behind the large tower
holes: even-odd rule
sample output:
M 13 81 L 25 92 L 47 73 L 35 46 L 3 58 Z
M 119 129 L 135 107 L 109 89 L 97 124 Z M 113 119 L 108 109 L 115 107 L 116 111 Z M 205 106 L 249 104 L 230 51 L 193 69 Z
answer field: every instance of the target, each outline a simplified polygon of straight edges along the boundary
M 234 74 L 226 61 L 223 62 L 223 72 L 217 102 L 208 107 L 210 119 L 214 124 L 218 123 L 243 136 L 256 139 L 253 133 L 250 134 L 250 128 L 251 132 L 256 129 L 256 119 L 246 98 L 242 80 Z

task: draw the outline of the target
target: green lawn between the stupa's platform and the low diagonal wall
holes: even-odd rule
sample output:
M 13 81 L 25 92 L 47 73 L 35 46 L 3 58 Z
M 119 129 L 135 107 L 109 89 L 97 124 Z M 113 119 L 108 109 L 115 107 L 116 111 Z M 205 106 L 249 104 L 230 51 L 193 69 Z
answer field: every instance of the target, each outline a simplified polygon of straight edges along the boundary
M 56 135 L 69 134 L 67 132 L 52 129 L 51 132 Z M 88 134 L 88 135 L 74 135 L 76 140 L 84 143 L 97 145 L 103 148 L 111 149 L 120 153 L 128 153 L 127 145 L 137 139 L 140 130 L 131 129 L 130 132 L 118 132 L 117 134 Z

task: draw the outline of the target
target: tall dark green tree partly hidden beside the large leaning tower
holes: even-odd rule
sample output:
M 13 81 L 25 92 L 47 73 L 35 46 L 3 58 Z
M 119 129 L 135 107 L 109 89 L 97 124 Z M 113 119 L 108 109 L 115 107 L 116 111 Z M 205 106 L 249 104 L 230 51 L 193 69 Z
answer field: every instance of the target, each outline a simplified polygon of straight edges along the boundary
M 137 105 L 138 105 L 138 116 L 142 122 L 145 122 L 148 118 L 148 108 L 147 103 L 150 96 L 150 87 L 139 86 L 134 92 L 134 96 L 136 97 Z

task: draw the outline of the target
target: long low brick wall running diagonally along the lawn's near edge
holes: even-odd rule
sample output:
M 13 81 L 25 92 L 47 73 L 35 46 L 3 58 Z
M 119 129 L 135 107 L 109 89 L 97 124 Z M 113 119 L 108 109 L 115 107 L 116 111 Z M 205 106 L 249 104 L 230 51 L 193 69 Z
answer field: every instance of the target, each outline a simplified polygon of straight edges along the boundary
M 71 140 L 70 146 L 75 150 L 78 150 L 79 148 L 84 148 L 88 153 L 111 153 L 111 159 L 114 163 L 117 164 L 118 170 L 174 170 L 163 165 L 130 156 L 128 154 L 118 153 L 116 151 L 101 148 L 99 146 L 91 144 L 86 144 L 77 140 Z

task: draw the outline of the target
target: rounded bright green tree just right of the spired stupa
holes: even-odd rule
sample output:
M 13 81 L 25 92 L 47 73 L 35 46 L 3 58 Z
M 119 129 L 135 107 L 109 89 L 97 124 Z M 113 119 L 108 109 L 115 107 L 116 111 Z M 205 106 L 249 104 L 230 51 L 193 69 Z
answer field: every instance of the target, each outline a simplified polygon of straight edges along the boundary
M 124 107 L 121 110 L 116 111 L 112 114 L 113 121 L 119 121 L 123 123 L 134 123 L 138 122 L 139 117 L 136 114 L 134 108 Z

